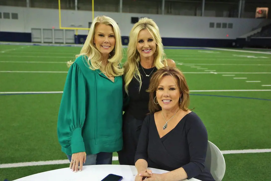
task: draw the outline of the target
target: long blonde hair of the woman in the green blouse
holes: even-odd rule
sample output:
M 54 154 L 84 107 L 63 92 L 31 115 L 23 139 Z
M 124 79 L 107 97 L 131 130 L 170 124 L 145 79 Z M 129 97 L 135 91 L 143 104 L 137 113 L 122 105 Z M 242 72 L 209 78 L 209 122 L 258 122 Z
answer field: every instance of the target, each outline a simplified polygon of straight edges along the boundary
M 102 65 L 101 53 L 93 44 L 93 39 L 95 35 L 95 26 L 100 23 L 112 26 L 115 33 L 115 39 L 116 39 L 115 47 L 109 53 L 108 64 L 106 67 Z M 123 48 L 122 48 L 122 43 L 121 43 L 120 28 L 118 24 L 112 18 L 107 17 L 107 16 L 95 17 L 91 24 L 86 41 L 80 53 L 76 55 L 75 58 L 81 55 L 85 56 L 85 58 L 87 59 L 86 62 L 88 63 L 89 68 L 91 70 L 96 70 L 96 69 L 100 69 L 102 71 L 105 70 L 107 75 L 110 75 L 113 77 L 123 75 L 123 68 L 120 67 L 120 63 L 123 57 Z M 73 62 L 74 61 L 67 62 L 67 66 L 70 67 L 73 64 Z

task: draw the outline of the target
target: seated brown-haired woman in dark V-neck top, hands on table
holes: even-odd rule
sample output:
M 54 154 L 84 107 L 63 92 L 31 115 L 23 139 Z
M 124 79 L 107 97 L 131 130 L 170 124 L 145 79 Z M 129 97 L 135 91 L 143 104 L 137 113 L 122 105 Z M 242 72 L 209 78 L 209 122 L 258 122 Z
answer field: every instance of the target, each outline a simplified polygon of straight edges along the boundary
M 196 113 L 188 109 L 189 89 L 182 72 L 168 66 L 158 69 L 147 91 L 150 114 L 141 127 L 135 180 L 214 181 L 204 166 L 207 130 Z M 147 167 L 170 172 L 155 174 Z

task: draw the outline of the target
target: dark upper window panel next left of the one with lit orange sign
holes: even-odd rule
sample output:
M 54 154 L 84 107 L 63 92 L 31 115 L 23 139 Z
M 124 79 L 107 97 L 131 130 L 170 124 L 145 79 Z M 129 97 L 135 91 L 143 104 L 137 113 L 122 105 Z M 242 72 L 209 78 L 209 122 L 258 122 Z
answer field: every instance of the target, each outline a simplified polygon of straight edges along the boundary
M 238 17 L 238 1 L 205 1 L 204 16 Z

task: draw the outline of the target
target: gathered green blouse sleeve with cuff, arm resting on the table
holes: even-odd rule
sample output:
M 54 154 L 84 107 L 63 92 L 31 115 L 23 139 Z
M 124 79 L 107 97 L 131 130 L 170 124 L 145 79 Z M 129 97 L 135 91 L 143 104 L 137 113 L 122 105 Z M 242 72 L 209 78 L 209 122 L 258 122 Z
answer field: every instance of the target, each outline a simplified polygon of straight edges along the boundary
M 76 62 L 70 66 L 57 120 L 57 136 L 62 149 L 70 154 L 85 152 L 82 127 L 86 115 L 86 81 Z M 69 149 L 70 148 L 70 149 Z

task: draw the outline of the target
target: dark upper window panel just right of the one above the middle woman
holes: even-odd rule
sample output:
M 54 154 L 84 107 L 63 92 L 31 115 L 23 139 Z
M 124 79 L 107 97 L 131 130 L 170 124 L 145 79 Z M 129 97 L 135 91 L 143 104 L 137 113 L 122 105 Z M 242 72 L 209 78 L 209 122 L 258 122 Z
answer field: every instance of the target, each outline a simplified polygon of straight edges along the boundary
M 165 14 L 200 16 L 202 1 L 165 1 Z

